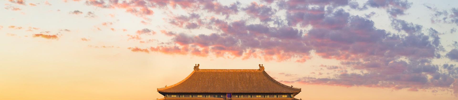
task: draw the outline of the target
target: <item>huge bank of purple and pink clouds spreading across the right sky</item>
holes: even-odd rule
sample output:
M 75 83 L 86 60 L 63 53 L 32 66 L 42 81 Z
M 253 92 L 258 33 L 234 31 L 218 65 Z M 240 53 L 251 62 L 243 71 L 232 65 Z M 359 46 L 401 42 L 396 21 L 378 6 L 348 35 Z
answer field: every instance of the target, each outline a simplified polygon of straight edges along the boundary
M 333 70 L 332 73 L 317 72 L 319 75 L 330 74 L 334 77 L 301 77 L 283 82 L 410 91 L 455 89 L 453 84 L 457 84 L 456 65 L 432 63 L 433 59 L 442 56 L 458 59 L 456 49 L 445 56 L 441 55 L 444 53 L 439 37 L 442 33 L 433 28 L 424 28 L 422 25 L 396 19 L 397 16 L 406 15 L 405 11 L 412 6 L 407 0 L 368 0 L 361 6 L 351 0 L 264 0 L 246 5 L 240 2 L 223 5 L 216 0 L 87 0 L 85 3 L 101 8 L 122 9 L 144 18 L 154 14 L 153 8 L 181 8 L 189 11 L 188 14 L 169 14 L 164 20 L 169 25 L 186 31 L 212 31 L 187 34 L 186 31 L 161 30 L 162 34 L 171 38 L 169 42 L 161 42 L 158 46 L 148 48 L 129 48 L 134 52 L 260 58 L 278 62 L 306 62 L 312 58 L 313 52 L 317 57 L 340 61 L 337 66 L 322 66 L 323 69 Z M 397 33 L 377 28 L 376 23 L 370 19 L 375 12 L 356 16 L 343 8 L 346 6 L 352 8 L 351 10 L 366 10 L 368 7 L 386 9 L 390 14 L 390 25 Z M 202 14 L 198 11 L 208 13 Z M 278 14 L 283 11 L 284 15 Z M 452 9 L 434 16 L 447 16 L 444 21 L 458 23 L 458 20 L 453 19 L 458 15 L 455 12 L 458 10 Z M 244 14 L 242 16 L 247 16 L 244 17 L 247 19 L 231 19 L 231 16 L 239 14 Z M 256 20 L 252 21 L 251 18 Z M 128 37 L 140 40 L 142 38 L 139 35 L 155 32 L 145 28 L 136 33 L 137 35 Z M 361 70 L 364 73 L 350 70 Z M 455 94 L 458 94 L 458 90 L 455 90 Z

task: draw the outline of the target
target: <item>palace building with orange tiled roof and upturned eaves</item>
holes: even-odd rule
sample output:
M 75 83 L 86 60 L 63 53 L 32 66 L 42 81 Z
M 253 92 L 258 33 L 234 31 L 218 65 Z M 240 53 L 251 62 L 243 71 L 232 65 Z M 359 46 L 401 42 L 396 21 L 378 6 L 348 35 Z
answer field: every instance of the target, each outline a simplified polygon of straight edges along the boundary
M 158 88 L 159 100 L 298 100 L 300 88 L 281 84 L 259 69 L 199 69 L 171 86 Z

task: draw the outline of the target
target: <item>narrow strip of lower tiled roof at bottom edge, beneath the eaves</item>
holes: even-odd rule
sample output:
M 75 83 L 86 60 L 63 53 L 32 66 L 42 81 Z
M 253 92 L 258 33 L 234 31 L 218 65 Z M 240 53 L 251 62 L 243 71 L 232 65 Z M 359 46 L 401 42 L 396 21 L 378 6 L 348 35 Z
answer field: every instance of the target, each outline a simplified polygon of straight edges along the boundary
M 226 98 L 162 98 L 159 100 L 226 100 Z M 296 98 L 232 98 L 232 100 L 299 100 Z

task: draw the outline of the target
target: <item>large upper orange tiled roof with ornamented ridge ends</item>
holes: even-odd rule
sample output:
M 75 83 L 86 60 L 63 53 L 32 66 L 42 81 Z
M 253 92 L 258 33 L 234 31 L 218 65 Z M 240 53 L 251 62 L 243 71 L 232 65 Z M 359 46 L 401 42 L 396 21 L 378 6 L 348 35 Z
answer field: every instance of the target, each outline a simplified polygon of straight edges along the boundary
M 262 67 L 262 68 L 261 68 Z M 181 82 L 158 88 L 162 93 L 298 93 L 260 69 L 198 69 Z

